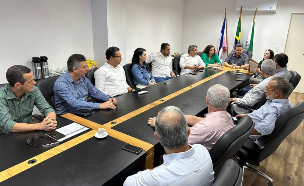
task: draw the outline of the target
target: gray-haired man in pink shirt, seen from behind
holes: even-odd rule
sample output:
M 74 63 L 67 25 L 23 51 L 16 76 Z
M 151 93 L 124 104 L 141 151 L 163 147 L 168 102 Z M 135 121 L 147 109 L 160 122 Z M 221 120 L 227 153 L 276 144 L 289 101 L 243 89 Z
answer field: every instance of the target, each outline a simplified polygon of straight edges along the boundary
M 213 85 L 207 91 L 206 118 L 185 115 L 188 125 L 192 126 L 188 138 L 189 144 L 201 144 L 209 151 L 217 140 L 234 126 L 231 115 L 226 111 L 229 96 L 227 87 L 220 84 Z M 154 126 L 154 121 L 155 118 L 149 118 L 148 124 Z

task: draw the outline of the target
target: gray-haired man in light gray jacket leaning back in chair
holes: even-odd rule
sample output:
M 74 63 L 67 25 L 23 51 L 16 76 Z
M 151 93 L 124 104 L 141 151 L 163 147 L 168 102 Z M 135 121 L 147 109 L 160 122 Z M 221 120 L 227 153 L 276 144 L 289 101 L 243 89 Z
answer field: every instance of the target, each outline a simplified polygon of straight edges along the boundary
M 277 70 L 276 64 L 273 60 L 267 59 L 264 60 L 262 63 L 262 71 L 261 75 L 264 77 L 263 81 L 261 83 L 255 85 L 253 89 L 248 91 L 244 97 L 238 96 L 230 98 L 230 101 L 241 103 L 243 105 L 253 107 L 257 102 L 259 102 L 262 97 L 264 96 L 264 90 L 266 89 L 266 86 L 268 82 L 273 78 L 275 75 L 274 73 Z M 233 104 L 234 111 L 238 114 L 243 114 L 238 112 L 238 105 Z

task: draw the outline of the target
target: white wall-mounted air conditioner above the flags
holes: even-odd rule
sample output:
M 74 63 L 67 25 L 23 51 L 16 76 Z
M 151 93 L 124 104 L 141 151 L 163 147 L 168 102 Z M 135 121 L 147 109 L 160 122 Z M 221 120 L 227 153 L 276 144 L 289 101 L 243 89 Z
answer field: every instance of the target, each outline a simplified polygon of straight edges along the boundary
M 276 12 L 278 0 L 236 0 L 236 11 L 254 12 Z

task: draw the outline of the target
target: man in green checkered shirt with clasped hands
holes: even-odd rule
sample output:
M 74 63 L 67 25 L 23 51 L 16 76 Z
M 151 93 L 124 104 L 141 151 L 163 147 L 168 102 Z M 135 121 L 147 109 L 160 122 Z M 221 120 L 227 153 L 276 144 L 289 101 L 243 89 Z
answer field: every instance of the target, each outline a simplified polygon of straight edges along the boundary
M 55 111 L 34 86 L 31 69 L 14 65 L 8 68 L 6 80 L 8 84 L 0 88 L 0 134 L 56 128 Z M 46 116 L 41 123 L 32 124 L 34 105 Z

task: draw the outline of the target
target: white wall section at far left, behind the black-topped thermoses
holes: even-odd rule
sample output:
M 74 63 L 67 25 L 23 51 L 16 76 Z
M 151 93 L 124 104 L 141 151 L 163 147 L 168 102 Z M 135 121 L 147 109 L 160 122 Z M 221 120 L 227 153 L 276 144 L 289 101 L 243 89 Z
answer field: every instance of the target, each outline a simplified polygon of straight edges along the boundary
M 0 25 L 0 83 L 12 65 L 32 69 L 33 56 L 47 56 L 49 69 L 74 53 L 94 59 L 90 0 L 0 0 Z

